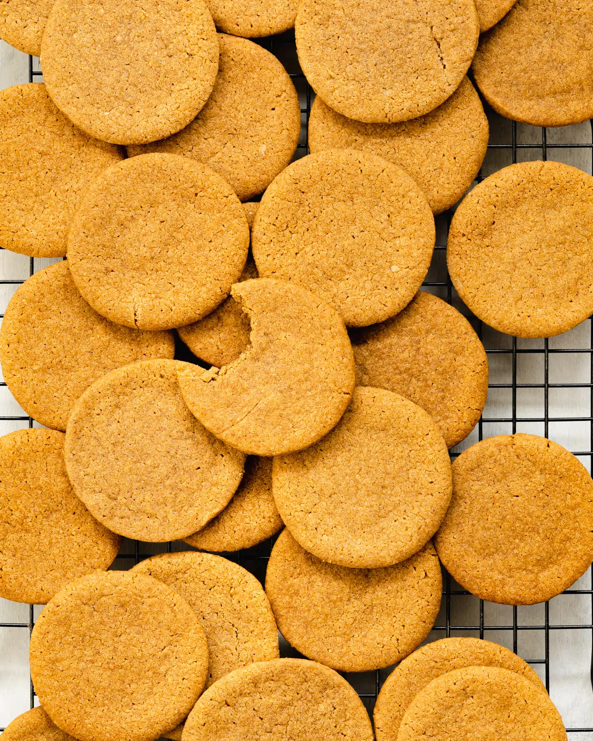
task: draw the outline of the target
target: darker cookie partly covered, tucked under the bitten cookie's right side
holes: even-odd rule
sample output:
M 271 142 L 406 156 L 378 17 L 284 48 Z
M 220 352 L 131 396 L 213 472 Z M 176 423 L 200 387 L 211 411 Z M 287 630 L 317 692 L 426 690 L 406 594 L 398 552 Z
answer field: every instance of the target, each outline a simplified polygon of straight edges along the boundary
M 457 309 L 421 290 L 393 319 L 350 336 L 357 385 L 396 391 L 422 407 L 448 448 L 474 429 L 486 404 L 488 359 Z

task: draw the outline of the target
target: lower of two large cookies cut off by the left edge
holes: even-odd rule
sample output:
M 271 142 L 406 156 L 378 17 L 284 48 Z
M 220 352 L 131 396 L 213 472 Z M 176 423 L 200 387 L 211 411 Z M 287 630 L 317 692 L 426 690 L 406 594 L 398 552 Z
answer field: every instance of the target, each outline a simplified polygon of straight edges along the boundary
M 120 538 L 74 494 L 64 434 L 0 437 L 0 597 L 44 605 L 66 582 L 109 568 Z

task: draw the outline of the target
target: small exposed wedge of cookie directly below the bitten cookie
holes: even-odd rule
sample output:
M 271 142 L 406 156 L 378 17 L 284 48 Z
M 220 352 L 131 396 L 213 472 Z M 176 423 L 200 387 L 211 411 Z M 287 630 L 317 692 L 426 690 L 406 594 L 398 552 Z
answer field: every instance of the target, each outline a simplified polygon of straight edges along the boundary
M 247 456 L 245 474 L 231 502 L 185 542 L 201 551 L 240 551 L 271 538 L 281 528 L 272 496 L 271 458 Z

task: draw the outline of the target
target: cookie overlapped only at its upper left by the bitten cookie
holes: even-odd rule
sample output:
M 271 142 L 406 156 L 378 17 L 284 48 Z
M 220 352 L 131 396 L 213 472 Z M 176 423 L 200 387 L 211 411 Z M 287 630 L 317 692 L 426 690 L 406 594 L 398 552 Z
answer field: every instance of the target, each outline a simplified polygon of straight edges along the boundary
M 413 556 L 434 535 L 451 499 L 451 463 L 423 409 L 399 393 L 358 386 L 331 433 L 274 458 L 272 491 L 309 553 L 380 568 Z

